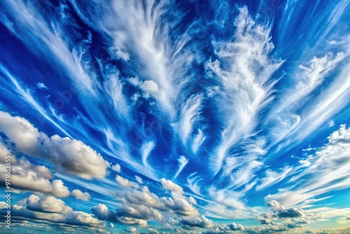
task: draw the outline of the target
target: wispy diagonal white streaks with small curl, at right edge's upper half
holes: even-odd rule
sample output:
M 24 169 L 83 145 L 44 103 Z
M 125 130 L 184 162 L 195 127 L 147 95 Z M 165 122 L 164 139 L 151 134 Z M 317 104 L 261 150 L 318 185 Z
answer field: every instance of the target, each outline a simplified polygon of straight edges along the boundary
M 273 124 L 275 125 L 270 130 L 270 134 L 274 137 L 272 145 L 281 142 L 279 147 L 276 148 L 277 150 L 289 149 L 290 146 L 301 142 L 305 137 L 316 132 L 321 125 L 346 106 L 350 97 L 350 66 L 340 67 L 343 59 L 343 53 L 314 57 L 310 61 L 311 65 L 308 69 L 312 76 L 299 76 L 300 85 L 304 85 L 301 92 L 299 93 L 300 88 L 296 90 L 290 89 L 290 93 L 295 95 L 295 97 L 287 95 L 281 99 L 283 100 L 281 104 L 276 105 L 278 109 L 272 111 L 272 116 L 268 118 L 274 119 Z M 330 75 L 330 71 L 337 71 L 334 78 L 328 81 L 330 84 L 325 85 L 324 90 L 320 94 L 316 93 L 314 97 L 309 97 L 311 92 L 317 87 L 312 82 L 317 84 L 323 81 L 325 77 Z M 309 85 L 314 89 L 309 90 Z M 305 96 L 304 93 L 309 93 L 309 95 Z M 293 98 L 293 100 L 289 102 L 289 98 Z M 310 99 L 312 102 L 310 102 Z M 293 106 L 292 103 L 297 103 L 298 105 Z M 293 113 L 302 104 L 306 104 L 302 111 L 297 115 Z

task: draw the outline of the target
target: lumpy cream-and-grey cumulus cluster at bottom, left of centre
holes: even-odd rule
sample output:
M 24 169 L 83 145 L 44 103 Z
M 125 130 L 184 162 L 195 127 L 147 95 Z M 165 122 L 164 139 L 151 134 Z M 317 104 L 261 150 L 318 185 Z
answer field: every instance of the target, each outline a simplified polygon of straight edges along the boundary
M 163 188 L 171 193 L 171 197 L 160 198 L 151 193 L 147 186 L 139 186 L 137 183 L 120 176 L 117 178 L 120 186 L 126 188 L 126 191 L 116 193 L 116 199 L 123 205 L 115 211 L 110 210 L 104 204 L 92 207 L 92 214 L 98 219 L 146 226 L 147 221 L 162 221 L 165 215 L 176 214 L 179 216 L 179 222 L 184 226 L 203 228 L 214 226 L 211 220 L 200 216 L 198 210 L 193 206 L 197 203 L 196 200 L 193 197 L 183 195 L 183 188 L 173 181 L 161 179 Z

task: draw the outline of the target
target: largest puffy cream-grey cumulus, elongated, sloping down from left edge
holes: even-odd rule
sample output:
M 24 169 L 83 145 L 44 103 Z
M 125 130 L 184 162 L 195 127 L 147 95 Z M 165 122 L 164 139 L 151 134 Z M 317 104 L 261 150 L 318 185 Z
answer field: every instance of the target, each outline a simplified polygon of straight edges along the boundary
M 104 178 L 109 163 L 99 153 L 76 139 L 46 136 L 25 118 L 0 111 L 0 131 L 15 144 L 15 151 L 47 158 L 57 169 L 84 179 Z

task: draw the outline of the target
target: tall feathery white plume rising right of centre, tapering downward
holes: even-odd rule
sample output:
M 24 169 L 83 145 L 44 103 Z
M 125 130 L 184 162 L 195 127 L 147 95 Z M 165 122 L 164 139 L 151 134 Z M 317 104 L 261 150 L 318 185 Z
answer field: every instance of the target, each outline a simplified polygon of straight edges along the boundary
M 269 57 L 274 48 L 269 27 L 255 23 L 246 7 L 239 9 L 234 25 L 234 41 L 213 42 L 220 61 L 205 65 L 208 76 L 216 76 L 222 89 L 218 106 L 223 131 L 210 159 L 214 174 L 221 170 L 230 148 L 254 130 L 258 111 L 272 99 L 274 83 L 267 81 L 282 63 Z

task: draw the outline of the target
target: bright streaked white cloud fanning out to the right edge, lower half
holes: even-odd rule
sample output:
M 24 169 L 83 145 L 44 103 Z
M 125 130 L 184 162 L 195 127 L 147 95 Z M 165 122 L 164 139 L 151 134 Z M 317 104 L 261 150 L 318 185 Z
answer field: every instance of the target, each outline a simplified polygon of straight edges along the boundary
M 281 188 L 279 193 L 267 195 L 265 199 L 278 200 L 283 205 L 303 207 L 302 202 L 319 197 L 330 191 L 350 186 L 350 128 L 341 125 L 328 137 L 328 144 L 308 156 L 303 163 L 304 170 L 295 174 L 290 181 L 293 187 Z M 335 183 L 337 181 L 337 183 Z M 309 202 L 304 205 L 309 206 Z

